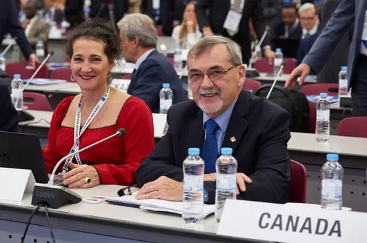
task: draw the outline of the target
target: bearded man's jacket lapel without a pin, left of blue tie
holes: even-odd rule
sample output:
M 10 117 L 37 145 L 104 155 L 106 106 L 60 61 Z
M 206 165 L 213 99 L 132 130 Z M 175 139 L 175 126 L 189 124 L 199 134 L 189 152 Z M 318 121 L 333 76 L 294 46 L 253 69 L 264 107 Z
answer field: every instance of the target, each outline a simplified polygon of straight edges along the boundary
M 196 106 L 196 104 L 195 104 Z M 204 144 L 203 112 L 198 108 L 195 119 L 190 121 L 188 130 L 188 147 L 201 148 Z

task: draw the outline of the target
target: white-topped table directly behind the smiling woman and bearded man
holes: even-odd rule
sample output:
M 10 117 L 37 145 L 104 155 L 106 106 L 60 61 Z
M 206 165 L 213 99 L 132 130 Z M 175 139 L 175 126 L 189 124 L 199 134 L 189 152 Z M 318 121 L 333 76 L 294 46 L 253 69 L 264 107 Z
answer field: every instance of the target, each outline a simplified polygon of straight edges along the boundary
M 19 123 L 23 133 L 34 133 L 46 145 L 52 112 L 28 110 L 34 116 L 33 121 Z M 153 114 L 155 143 L 165 134 L 166 115 Z M 343 200 L 344 206 L 354 211 L 367 212 L 367 139 L 358 137 L 341 137 L 330 135 L 328 144 L 318 144 L 315 134 L 291 133 L 288 142 L 290 158 L 304 164 L 308 172 L 306 202 L 320 203 L 321 166 L 326 162 L 326 154 L 339 154 L 340 163 L 344 167 Z

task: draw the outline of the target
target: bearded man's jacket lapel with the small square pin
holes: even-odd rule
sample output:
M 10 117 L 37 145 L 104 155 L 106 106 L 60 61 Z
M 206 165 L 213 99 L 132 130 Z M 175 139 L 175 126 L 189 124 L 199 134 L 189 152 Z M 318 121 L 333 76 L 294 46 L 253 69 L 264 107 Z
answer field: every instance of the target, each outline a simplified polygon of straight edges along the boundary
M 248 122 L 244 117 L 249 112 L 249 101 L 250 95 L 246 91 L 241 91 L 235 108 L 232 111 L 226 135 L 224 136 L 224 141 L 221 146 L 222 148 L 232 148 L 235 153 L 237 145 L 239 141 L 241 141 L 242 135 L 244 135 L 248 126 Z

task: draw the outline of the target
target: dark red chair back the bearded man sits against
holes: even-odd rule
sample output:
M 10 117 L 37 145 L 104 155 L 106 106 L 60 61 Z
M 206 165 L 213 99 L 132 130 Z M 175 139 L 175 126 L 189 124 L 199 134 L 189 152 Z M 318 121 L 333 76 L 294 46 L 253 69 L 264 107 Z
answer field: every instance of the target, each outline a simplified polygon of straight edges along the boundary
M 303 164 L 290 159 L 289 202 L 306 202 L 307 171 Z

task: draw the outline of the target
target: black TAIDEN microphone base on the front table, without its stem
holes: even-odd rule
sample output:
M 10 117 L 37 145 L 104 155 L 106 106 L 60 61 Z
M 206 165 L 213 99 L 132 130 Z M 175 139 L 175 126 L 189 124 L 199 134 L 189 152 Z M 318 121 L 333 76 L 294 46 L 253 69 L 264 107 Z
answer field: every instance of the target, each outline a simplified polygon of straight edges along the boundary
M 50 208 L 81 202 L 82 197 L 63 186 L 36 183 L 32 195 L 32 205 L 46 203 Z

